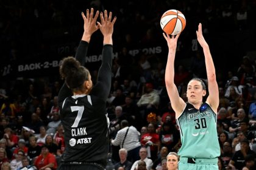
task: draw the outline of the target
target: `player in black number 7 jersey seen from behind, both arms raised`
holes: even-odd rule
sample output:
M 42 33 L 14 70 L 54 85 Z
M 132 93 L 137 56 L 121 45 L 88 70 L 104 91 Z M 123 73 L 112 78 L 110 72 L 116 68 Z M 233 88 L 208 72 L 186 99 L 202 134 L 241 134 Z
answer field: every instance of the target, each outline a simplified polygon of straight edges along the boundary
M 84 34 L 76 53 L 76 59 L 68 57 L 60 66 L 65 83 L 59 92 L 60 115 L 65 129 L 66 148 L 59 169 L 105 169 L 108 153 L 108 118 L 106 100 L 110 92 L 113 58 L 112 12 L 93 17 L 87 10 L 84 18 Z M 97 83 L 93 86 L 90 72 L 84 67 L 91 35 L 100 29 L 103 40 L 102 64 Z

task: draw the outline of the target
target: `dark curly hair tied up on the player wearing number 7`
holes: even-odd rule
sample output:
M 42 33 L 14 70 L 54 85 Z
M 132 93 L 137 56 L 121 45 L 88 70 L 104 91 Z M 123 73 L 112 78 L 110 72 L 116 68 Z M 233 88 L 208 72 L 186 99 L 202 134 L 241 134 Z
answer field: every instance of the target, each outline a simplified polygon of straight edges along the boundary
M 84 81 L 88 80 L 89 71 L 81 66 L 74 57 L 68 56 L 63 59 L 60 66 L 60 75 L 71 90 L 81 90 Z

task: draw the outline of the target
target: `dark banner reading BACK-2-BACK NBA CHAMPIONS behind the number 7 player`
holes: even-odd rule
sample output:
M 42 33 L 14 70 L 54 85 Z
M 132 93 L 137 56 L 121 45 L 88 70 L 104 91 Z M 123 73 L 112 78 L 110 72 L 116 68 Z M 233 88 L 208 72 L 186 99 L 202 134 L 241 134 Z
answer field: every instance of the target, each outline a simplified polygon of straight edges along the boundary
M 129 50 L 130 55 L 136 56 L 138 53 L 146 53 L 147 55 L 162 53 L 162 47 L 148 47 L 143 49 Z M 138 56 L 139 57 L 139 56 Z M 59 65 L 62 58 L 45 60 L 29 60 L 15 63 L 0 64 L 0 78 L 16 78 L 16 77 L 40 77 L 59 74 Z M 118 58 L 118 52 L 113 52 L 113 58 Z M 85 58 L 85 67 L 89 70 L 98 69 L 101 65 L 102 54 L 88 55 Z

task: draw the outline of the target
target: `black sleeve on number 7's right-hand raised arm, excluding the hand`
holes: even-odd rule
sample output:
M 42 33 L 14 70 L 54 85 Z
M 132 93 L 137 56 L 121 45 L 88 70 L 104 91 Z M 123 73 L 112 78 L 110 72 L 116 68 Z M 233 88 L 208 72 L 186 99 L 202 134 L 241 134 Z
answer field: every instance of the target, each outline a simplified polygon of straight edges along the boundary
M 97 84 L 93 87 L 91 94 L 102 98 L 104 101 L 110 92 L 112 79 L 113 46 L 105 44 L 102 51 L 102 64 L 99 68 Z

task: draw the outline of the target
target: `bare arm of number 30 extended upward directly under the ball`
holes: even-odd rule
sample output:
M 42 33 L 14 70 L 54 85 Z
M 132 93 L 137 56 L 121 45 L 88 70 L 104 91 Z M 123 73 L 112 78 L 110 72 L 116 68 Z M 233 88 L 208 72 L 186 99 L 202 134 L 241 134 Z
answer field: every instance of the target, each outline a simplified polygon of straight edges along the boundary
M 176 118 L 179 117 L 182 110 L 185 107 L 185 101 L 182 100 L 179 96 L 179 92 L 177 90 L 176 85 L 174 84 L 174 60 L 175 60 L 175 54 L 176 54 L 176 47 L 177 47 L 177 40 L 180 35 L 172 35 L 171 37 L 169 35 L 166 35 L 163 33 L 163 36 L 165 37 L 167 44 L 168 44 L 168 59 L 166 63 L 166 69 L 165 69 L 165 85 L 168 92 L 169 99 L 171 101 L 171 106 L 174 112 L 176 113 Z

